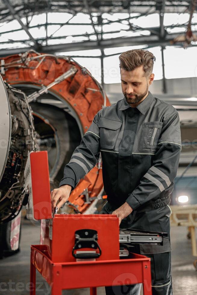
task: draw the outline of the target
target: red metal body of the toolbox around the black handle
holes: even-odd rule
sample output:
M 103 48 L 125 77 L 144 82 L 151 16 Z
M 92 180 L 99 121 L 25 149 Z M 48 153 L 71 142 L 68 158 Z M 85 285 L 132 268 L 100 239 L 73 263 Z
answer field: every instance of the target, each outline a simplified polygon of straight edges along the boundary
M 75 231 L 94 229 L 98 232 L 98 243 L 102 254 L 96 260 L 119 259 L 118 218 L 107 214 L 78 215 L 56 214 L 53 220 L 42 220 L 41 244 L 48 247 L 53 262 L 72 262 Z

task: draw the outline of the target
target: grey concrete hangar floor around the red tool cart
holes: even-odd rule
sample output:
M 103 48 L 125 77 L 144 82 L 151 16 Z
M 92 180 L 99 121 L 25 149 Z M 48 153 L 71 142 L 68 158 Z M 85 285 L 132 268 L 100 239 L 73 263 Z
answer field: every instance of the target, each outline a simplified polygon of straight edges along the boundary
M 0 295 L 29 294 L 30 244 L 39 244 L 39 232 L 39 223 L 23 220 L 20 253 L 0 260 Z M 186 228 L 171 229 L 171 244 L 173 294 L 194 295 L 197 293 L 197 272 L 192 264 L 195 258 L 191 254 L 191 241 L 186 238 Z M 36 278 L 36 295 L 49 295 L 49 286 L 39 272 L 36 272 Z M 104 287 L 97 288 L 97 293 L 105 295 Z M 89 289 L 64 290 L 62 294 L 88 295 Z

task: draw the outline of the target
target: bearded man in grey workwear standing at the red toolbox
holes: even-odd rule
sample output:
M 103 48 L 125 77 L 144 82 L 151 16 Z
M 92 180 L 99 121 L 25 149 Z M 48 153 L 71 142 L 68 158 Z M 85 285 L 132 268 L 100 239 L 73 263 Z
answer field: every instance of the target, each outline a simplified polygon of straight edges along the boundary
M 140 244 L 133 251 L 151 258 L 153 295 L 172 295 L 169 203 L 181 150 L 179 115 L 149 92 L 155 61 L 151 52 L 134 49 L 119 60 L 124 98 L 95 115 L 65 166 L 59 188 L 52 191 L 52 206 L 60 208 L 67 201 L 101 152 L 107 194 L 102 213 L 116 214 L 120 228 L 168 233 L 163 246 Z M 107 295 L 139 295 L 140 287 L 105 290 Z

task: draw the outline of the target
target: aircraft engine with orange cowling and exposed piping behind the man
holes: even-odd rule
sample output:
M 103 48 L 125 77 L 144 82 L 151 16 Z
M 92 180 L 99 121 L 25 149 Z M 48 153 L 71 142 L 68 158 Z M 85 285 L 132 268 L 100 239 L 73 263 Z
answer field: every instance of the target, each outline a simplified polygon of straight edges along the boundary
M 23 159 L 26 159 L 27 151 L 34 148 L 48 151 L 50 185 L 51 189 L 57 188 L 63 177 L 64 166 L 80 144 L 95 114 L 102 107 L 109 106 L 110 102 L 102 86 L 91 73 L 69 56 L 40 54 L 29 50 L 2 58 L 0 61 L 2 78 L 10 85 L 7 86 L 8 92 L 13 93 L 9 94 L 13 99 L 10 101 L 11 112 L 6 117 L 7 120 L 9 118 L 10 125 L 8 122 L 7 124 L 12 126 L 10 128 L 14 138 L 17 136 L 15 141 L 10 139 L 7 151 L 8 165 L 5 172 L 2 171 L 0 199 L 0 220 L 2 220 L 6 219 L 8 214 L 15 214 L 13 212 L 17 211 L 17 204 L 20 207 L 22 202 L 20 185 L 23 176 L 22 173 L 19 176 L 19 173 L 24 169 Z M 17 90 L 13 90 L 11 86 Z M 8 103 L 6 104 L 8 109 Z M 23 144 L 19 144 L 15 151 L 14 144 L 20 142 L 20 137 Z M 5 154 L 2 158 L 5 159 Z M 16 169 L 15 174 L 14 169 Z M 20 193 L 17 193 L 17 200 L 13 197 L 15 210 L 10 198 L 17 189 Z M 102 194 L 100 157 L 96 166 L 71 192 L 69 202 L 62 211 L 94 213 L 95 205 Z M 6 202 L 11 204 L 11 209 L 6 207 Z

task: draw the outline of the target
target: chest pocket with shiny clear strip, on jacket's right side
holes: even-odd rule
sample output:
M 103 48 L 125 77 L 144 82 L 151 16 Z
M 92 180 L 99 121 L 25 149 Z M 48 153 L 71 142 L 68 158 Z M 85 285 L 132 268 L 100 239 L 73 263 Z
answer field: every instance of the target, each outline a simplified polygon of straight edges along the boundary
M 156 151 L 162 125 L 159 121 L 142 124 L 139 151 Z

